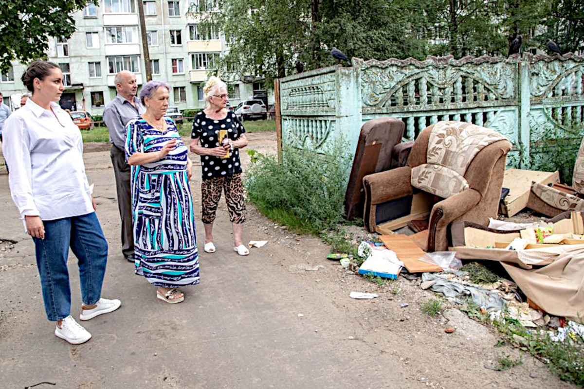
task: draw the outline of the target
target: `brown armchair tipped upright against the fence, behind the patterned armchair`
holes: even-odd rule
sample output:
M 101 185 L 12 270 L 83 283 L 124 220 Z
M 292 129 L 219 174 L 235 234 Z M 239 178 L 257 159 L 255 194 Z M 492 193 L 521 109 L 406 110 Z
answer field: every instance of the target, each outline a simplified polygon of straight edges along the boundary
M 404 122 L 396 118 L 376 118 L 363 124 L 345 194 L 347 220 L 363 216 L 364 176 L 405 165 L 413 142 L 400 143 L 403 136 Z

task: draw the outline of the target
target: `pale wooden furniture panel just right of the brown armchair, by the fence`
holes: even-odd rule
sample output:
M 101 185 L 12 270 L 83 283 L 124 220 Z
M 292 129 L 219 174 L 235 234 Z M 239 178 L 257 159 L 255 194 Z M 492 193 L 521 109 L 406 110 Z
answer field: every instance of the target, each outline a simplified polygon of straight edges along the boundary
M 505 170 L 503 188 L 509 188 L 509 194 L 503 199 L 501 207 L 503 213 L 513 216 L 525 208 L 529 200 L 532 181 L 544 185 L 559 183 L 559 173 L 557 170 L 554 173 L 521 169 Z

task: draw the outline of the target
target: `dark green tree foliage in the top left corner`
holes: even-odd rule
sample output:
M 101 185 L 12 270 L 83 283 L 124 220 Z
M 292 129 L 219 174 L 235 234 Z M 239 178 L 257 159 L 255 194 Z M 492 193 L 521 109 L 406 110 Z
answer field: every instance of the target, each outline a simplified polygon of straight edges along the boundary
M 11 62 L 45 58 L 49 37 L 69 38 L 75 31 L 72 13 L 88 0 L 4 0 L 0 2 L 0 71 Z

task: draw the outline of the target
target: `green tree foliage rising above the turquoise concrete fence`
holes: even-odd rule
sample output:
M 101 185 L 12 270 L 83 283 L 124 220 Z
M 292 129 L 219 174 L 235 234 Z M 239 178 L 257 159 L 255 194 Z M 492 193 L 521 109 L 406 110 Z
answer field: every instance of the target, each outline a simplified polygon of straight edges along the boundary
M 203 15 L 230 37 L 222 60 L 241 74 L 272 78 L 336 64 L 334 47 L 351 57 L 506 55 L 509 36 L 523 49 L 564 51 L 584 40 L 584 0 L 220 0 Z

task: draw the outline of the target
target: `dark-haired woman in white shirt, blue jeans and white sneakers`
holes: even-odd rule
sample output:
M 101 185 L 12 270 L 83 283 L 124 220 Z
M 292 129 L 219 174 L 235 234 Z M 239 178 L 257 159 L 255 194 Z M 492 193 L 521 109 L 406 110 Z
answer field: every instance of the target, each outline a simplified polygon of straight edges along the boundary
M 22 82 L 32 97 L 6 120 L 2 152 L 10 166 L 12 199 L 34 241 L 47 318 L 57 322 L 57 337 L 81 344 L 91 334 L 70 314 L 69 247 L 79 260 L 79 318 L 112 312 L 121 303 L 100 298 L 107 242 L 85 176 L 81 132 L 56 103 L 62 77 L 53 62 L 30 64 Z

